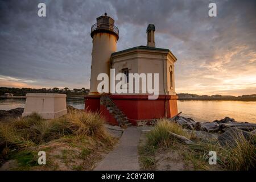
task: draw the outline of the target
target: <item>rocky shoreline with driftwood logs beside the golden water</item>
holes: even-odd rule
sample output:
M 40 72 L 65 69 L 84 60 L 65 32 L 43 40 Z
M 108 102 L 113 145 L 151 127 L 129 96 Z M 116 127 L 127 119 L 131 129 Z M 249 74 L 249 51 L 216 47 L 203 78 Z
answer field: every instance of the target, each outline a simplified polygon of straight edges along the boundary
M 179 113 L 180 114 L 180 113 Z M 196 122 L 191 118 L 185 118 L 176 115 L 170 118 L 169 121 L 176 122 L 181 125 L 188 133 L 193 133 L 197 138 L 201 140 L 218 140 L 222 145 L 232 146 L 235 144 L 236 135 L 243 135 L 245 139 L 250 140 L 256 146 L 255 139 L 256 135 L 256 124 L 249 122 L 236 122 L 235 119 L 225 117 L 221 120 L 215 120 L 213 122 Z M 179 136 L 175 136 L 179 138 Z M 180 136 L 181 137 L 181 136 Z M 188 139 L 183 137 L 179 138 L 184 143 L 191 143 Z

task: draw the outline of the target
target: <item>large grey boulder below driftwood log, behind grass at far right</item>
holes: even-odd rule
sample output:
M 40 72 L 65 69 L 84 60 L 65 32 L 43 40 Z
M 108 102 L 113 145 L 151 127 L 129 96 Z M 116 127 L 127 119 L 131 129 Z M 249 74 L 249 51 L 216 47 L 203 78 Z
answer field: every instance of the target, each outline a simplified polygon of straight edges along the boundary
M 243 135 L 243 137 L 245 137 L 246 140 L 250 140 L 252 136 L 247 131 L 243 131 L 237 128 L 229 128 L 226 129 L 226 131 L 223 134 L 218 136 L 218 142 L 220 142 L 222 146 L 234 146 L 236 144 L 236 137 L 239 135 Z

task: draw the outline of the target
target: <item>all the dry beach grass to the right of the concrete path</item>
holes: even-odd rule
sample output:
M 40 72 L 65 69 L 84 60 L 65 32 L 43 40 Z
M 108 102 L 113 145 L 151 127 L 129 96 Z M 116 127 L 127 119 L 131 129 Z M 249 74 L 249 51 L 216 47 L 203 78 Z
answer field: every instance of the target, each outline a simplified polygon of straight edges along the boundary
M 195 138 L 188 134 L 180 125 L 174 122 L 161 119 L 150 133 L 147 134 L 147 143 L 141 148 L 140 158 L 144 169 L 152 169 L 155 166 L 156 151 L 158 148 L 172 147 L 177 150 L 179 146 L 184 146 L 184 160 L 193 163 L 195 169 L 199 170 L 255 170 L 256 168 L 256 136 L 251 134 L 251 138 L 245 138 L 242 133 L 234 133 L 232 145 L 221 146 L 217 140 L 199 141 L 195 144 L 186 146 L 179 144 L 169 135 L 172 133 L 183 135 L 189 139 Z M 152 150 L 154 148 L 154 150 Z M 182 147 L 181 147 L 182 148 Z M 208 163 L 209 151 L 216 151 L 217 164 L 211 166 Z

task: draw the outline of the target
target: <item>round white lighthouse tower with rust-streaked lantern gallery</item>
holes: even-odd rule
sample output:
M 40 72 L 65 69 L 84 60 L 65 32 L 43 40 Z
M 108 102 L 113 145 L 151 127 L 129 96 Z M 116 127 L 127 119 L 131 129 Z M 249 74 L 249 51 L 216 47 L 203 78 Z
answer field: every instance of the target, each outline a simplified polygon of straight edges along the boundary
M 90 95 L 99 95 L 97 86 L 100 73 L 110 75 L 110 57 L 117 51 L 118 28 L 114 26 L 114 19 L 106 13 L 97 18 L 93 24 L 90 36 L 93 38 L 92 67 L 90 71 Z

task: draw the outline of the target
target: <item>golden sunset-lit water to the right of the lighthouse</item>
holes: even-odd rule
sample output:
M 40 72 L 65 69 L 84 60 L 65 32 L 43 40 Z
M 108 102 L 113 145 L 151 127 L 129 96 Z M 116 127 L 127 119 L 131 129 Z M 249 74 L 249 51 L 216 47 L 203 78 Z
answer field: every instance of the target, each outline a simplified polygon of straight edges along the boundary
M 181 115 L 207 122 L 226 116 L 238 122 L 256 123 L 256 102 L 246 101 L 178 101 Z

